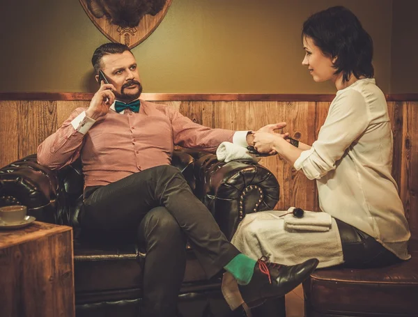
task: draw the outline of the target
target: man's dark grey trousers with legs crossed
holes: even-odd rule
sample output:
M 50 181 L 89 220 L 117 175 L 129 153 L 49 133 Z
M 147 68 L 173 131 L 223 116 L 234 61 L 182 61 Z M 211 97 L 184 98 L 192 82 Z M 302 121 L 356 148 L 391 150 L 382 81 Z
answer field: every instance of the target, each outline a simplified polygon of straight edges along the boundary
M 82 229 L 145 242 L 144 316 L 175 316 L 185 272 L 185 241 L 208 278 L 239 254 L 181 172 L 153 167 L 98 188 L 86 188 Z

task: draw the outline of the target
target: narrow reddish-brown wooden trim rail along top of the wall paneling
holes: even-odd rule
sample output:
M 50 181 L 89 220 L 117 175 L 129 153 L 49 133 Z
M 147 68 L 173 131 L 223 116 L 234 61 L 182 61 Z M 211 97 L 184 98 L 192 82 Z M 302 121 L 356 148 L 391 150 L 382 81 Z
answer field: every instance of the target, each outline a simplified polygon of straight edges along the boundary
M 327 102 L 335 95 L 274 94 L 274 93 L 143 93 L 150 101 L 283 101 Z M 93 93 L 6 93 L 0 92 L 0 100 L 91 100 Z M 386 95 L 387 101 L 418 101 L 418 93 Z

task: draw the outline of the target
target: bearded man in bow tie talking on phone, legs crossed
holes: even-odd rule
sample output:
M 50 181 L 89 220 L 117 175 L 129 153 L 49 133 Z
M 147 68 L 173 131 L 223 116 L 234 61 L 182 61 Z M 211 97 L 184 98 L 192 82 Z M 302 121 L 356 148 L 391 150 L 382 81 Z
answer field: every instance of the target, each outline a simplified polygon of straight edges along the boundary
M 223 268 L 240 284 L 247 304 L 282 296 L 316 268 L 311 259 L 291 267 L 267 268 L 240 254 L 171 166 L 173 144 L 215 151 L 222 141 L 247 146 L 247 131 L 210 129 L 165 105 L 139 100 L 137 62 L 118 43 L 104 44 L 92 59 L 104 72 L 88 109 L 78 108 L 38 147 L 38 162 L 61 169 L 82 157 L 84 210 L 81 225 L 94 235 L 137 232 L 144 240 L 144 316 L 175 316 L 185 272 L 188 238 L 208 278 Z M 96 79 L 98 79 L 96 75 Z M 261 130 L 273 132 L 284 123 Z M 263 272 L 264 273 L 263 273 Z

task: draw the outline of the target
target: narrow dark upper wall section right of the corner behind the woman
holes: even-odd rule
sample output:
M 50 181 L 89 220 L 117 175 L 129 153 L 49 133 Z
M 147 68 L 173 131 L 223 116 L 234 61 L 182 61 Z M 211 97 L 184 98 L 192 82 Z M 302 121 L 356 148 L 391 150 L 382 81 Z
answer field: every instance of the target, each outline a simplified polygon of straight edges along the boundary
M 391 93 L 418 93 L 418 1 L 393 1 Z

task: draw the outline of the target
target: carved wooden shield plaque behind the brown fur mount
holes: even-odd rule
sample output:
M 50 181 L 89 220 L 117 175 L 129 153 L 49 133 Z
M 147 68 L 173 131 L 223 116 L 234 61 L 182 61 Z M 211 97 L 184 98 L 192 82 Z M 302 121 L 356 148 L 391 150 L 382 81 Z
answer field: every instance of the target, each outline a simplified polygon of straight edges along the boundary
M 157 13 L 155 16 L 153 15 L 145 15 L 141 22 L 139 22 L 138 26 L 131 27 L 131 28 L 123 28 L 122 26 L 118 26 L 115 24 L 112 24 L 109 19 L 104 17 L 95 17 L 93 13 L 91 13 L 91 10 L 88 8 L 87 1 L 88 0 L 79 0 L 82 4 L 84 11 L 86 11 L 88 17 L 91 21 L 95 24 L 95 26 L 98 27 L 98 29 L 105 35 L 109 40 L 112 42 L 119 42 L 122 44 L 127 45 L 130 49 L 137 46 L 139 43 L 144 41 L 148 36 L 150 36 L 151 33 L 155 29 L 157 29 L 157 26 L 160 25 L 162 19 L 167 13 L 167 10 L 169 10 L 169 6 L 171 5 L 172 0 L 167 0 L 167 2 L 164 5 L 164 8 L 160 10 L 159 13 Z

